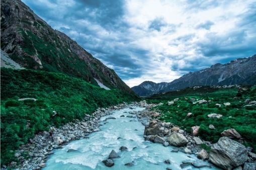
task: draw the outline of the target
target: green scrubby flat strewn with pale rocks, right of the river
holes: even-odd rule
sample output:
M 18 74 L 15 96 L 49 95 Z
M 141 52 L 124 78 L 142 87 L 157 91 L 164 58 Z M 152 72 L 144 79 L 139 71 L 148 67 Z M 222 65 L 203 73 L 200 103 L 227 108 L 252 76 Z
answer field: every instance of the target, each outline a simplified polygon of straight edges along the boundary
M 210 87 L 202 87 L 196 90 L 192 89 L 187 88 L 178 92 L 155 95 L 149 101 L 161 101 L 164 103 L 155 108 L 161 111 L 161 120 L 173 122 L 182 128 L 186 128 L 188 132 L 190 132 L 192 126 L 198 125 L 200 126 L 199 135 L 205 140 L 216 142 L 221 137 L 220 133 L 223 130 L 235 128 L 247 141 L 244 144 L 253 146 L 256 149 L 256 106 L 244 107 L 247 105 L 247 103 L 244 103 L 245 99 L 256 100 L 255 86 L 241 93 L 238 93 L 236 88 L 212 89 Z M 177 97 L 180 100 L 175 104 L 167 104 L 168 100 Z M 212 102 L 192 104 L 191 98 L 206 99 Z M 230 102 L 231 105 L 225 106 L 223 103 L 226 102 Z M 216 106 L 217 103 L 221 104 L 221 107 Z M 187 117 L 189 112 L 192 112 L 193 116 Z M 208 118 L 207 115 L 210 113 L 219 113 L 223 117 L 220 119 Z M 209 124 L 213 124 L 216 128 L 214 130 L 209 129 Z

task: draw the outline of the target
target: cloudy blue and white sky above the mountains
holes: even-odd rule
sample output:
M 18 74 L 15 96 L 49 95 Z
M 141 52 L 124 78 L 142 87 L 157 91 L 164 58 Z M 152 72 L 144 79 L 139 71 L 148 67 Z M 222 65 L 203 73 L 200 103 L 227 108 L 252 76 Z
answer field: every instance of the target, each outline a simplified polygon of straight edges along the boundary
M 256 0 L 22 0 L 130 87 L 256 54 Z

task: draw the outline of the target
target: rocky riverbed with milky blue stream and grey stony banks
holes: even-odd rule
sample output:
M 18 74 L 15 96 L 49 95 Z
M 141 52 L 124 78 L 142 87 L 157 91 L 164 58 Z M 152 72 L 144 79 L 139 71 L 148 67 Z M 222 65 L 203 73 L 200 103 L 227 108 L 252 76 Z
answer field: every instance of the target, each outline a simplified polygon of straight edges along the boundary
M 144 101 L 123 103 L 110 108 L 99 108 L 83 120 L 74 120 L 60 128 L 51 127 L 49 131 L 40 132 L 28 144 L 22 145 L 20 150 L 16 150 L 14 154 L 21 163 L 12 162 L 9 167 L 40 169 L 47 165 L 46 169 L 69 169 L 77 165 L 77 169 L 101 169 L 106 166 L 113 169 L 214 169 L 210 162 L 224 169 L 248 170 L 255 167 L 256 156 L 251 148 L 245 148 L 228 137 L 220 138 L 215 144 L 201 140 L 196 136 L 198 127 L 192 127 L 190 134 L 172 123 L 161 122 L 157 119 L 159 113 L 149 110 L 153 106 L 155 104 Z M 120 109 L 124 110 L 114 111 Z M 101 139 L 102 136 L 104 137 Z M 101 143 L 95 144 L 99 139 Z M 203 143 L 212 147 L 210 153 L 201 148 Z M 91 144 L 95 147 L 91 147 Z M 25 158 L 24 153 L 29 156 Z M 121 158 L 113 157 L 115 154 Z

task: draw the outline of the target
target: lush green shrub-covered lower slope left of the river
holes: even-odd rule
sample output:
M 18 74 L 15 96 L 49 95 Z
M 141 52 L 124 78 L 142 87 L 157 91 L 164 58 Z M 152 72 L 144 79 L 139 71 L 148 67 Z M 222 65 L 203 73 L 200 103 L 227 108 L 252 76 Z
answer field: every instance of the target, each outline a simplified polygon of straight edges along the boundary
M 123 90 L 105 90 L 64 74 L 1 68 L 1 164 L 15 160 L 10 150 L 39 131 L 82 119 L 98 107 L 135 100 Z

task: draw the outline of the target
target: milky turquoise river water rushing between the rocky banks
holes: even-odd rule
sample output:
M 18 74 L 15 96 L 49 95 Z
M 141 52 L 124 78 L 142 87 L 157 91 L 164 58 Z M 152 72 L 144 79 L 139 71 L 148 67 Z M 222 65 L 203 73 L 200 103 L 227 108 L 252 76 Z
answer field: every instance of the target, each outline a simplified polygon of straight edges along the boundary
M 117 119 L 105 120 L 102 117 L 100 131 L 89 135 L 89 139 L 72 141 L 63 146 L 62 149 L 54 151 L 47 160 L 46 169 L 181 169 L 180 164 L 183 160 L 196 160 L 195 155 L 185 154 L 181 151 L 170 152 L 174 146 L 164 147 L 162 144 L 144 141 L 144 126 L 136 118 L 120 117 L 129 115 L 129 111 L 139 111 L 144 108 L 134 107 L 135 109 L 125 108 L 113 111 Z M 133 120 L 133 121 L 130 121 Z M 121 139 L 117 139 L 121 137 Z M 128 151 L 120 151 L 121 146 L 126 146 Z M 136 147 L 136 148 L 134 148 Z M 67 152 L 68 149 L 76 149 L 74 152 Z M 114 149 L 121 158 L 115 158 L 115 165 L 107 167 L 102 160 L 107 159 L 111 150 Z M 163 161 L 169 159 L 171 164 Z M 125 166 L 125 163 L 134 161 L 134 166 Z M 199 169 L 187 166 L 184 169 Z M 209 169 L 209 168 L 200 168 Z M 218 169 L 212 167 L 211 169 Z

